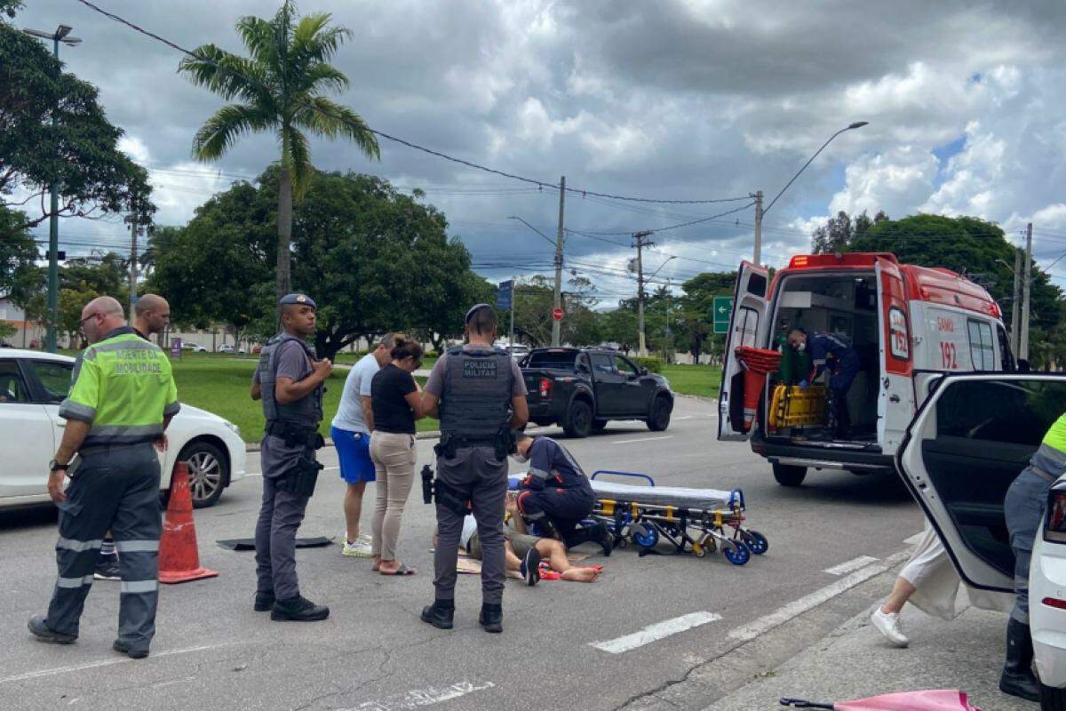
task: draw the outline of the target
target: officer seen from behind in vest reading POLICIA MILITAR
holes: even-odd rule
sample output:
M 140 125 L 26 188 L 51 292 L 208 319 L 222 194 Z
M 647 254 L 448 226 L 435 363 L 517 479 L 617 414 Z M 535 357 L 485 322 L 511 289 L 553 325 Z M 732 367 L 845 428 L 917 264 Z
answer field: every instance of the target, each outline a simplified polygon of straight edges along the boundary
M 427 417 L 440 419 L 437 452 L 436 597 L 422 620 L 452 628 L 455 613 L 456 556 L 463 519 L 472 513 L 483 558 L 479 623 L 503 631 L 503 514 L 507 492 L 507 454 L 512 430 L 526 425 L 529 405 L 521 371 L 506 351 L 492 348 L 496 312 L 478 304 L 466 314 L 466 345 L 449 350 L 433 368 L 422 394 Z

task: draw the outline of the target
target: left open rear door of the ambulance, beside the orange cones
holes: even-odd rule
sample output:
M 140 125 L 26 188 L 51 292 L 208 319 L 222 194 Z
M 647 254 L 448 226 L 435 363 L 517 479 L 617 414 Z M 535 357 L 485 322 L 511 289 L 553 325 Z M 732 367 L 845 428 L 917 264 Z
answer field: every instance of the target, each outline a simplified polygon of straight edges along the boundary
M 744 372 L 734 351 L 738 345 L 765 348 L 766 289 L 770 272 L 748 261 L 742 261 L 737 272 L 733 310 L 729 316 L 729 333 L 722 359 L 722 386 L 718 390 L 718 439 L 747 439 L 744 427 Z

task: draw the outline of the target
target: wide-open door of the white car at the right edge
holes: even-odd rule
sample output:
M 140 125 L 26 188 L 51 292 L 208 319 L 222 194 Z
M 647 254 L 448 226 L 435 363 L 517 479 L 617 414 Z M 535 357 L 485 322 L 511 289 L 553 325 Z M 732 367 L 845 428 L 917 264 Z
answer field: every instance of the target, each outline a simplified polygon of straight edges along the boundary
M 1066 411 L 1066 376 L 947 375 L 918 411 L 897 468 L 963 580 L 1011 592 L 1003 498 Z

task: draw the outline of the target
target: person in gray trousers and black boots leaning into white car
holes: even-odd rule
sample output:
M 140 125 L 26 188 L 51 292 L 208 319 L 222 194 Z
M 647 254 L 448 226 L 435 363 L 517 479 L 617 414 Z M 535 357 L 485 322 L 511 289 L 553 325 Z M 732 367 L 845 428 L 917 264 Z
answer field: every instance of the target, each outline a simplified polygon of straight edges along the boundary
M 1006 490 L 1003 515 L 1014 552 L 1014 591 L 1017 593 L 1006 625 L 1006 661 L 1000 691 L 1031 701 L 1039 700 L 1033 676 L 1033 640 L 1029 635 L 1029 564 L 1033 543 L 1044 518 L 1051 485 L 1066 474 L 1066 415 L 1055 420 L 1040 447 Z

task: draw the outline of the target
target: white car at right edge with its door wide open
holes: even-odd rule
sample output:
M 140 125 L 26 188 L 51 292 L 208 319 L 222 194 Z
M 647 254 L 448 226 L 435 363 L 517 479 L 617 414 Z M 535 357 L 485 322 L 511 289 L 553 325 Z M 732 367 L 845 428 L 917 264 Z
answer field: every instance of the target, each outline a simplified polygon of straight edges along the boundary
M 1066 413 L 1066 376 L 959 374 L 925 383 L 935 389 L 910 423 L 897 468 L 963 581 L 1012 594 L 1014 554 L 1003 499 Z M 1029 611 L 1040 707 L 1066 709 L 1066 476 L 1052 487 L 1036 536 Z

